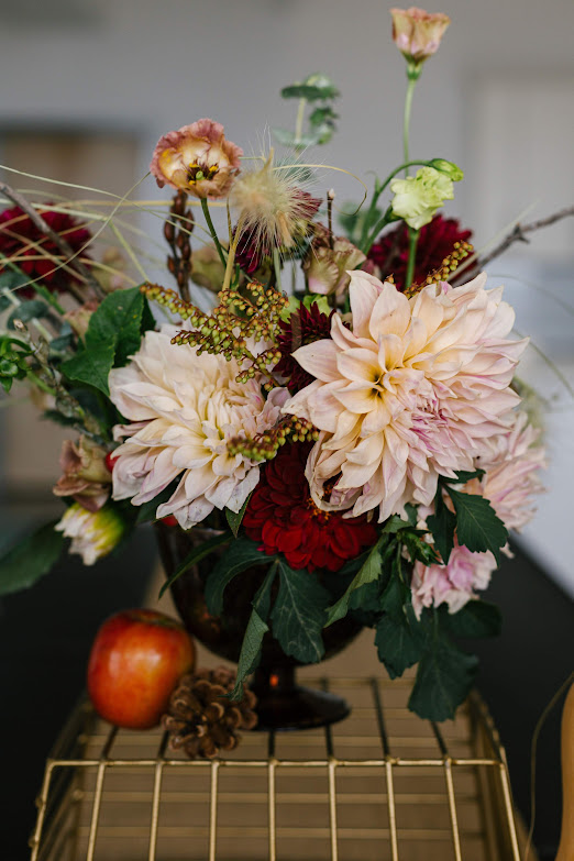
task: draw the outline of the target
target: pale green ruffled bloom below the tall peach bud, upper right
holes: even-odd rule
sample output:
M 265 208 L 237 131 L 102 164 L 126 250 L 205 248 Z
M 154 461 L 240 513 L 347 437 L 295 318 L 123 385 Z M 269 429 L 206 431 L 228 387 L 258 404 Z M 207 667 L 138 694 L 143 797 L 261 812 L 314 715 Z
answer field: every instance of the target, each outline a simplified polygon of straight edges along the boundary
M 433 167 L 421 167 L 407 179 L 394 179 L 390 190 L 395 195 L 393 212 L 413 230 L 428 224 L 443 202 L 454 198 L 452 179 Z

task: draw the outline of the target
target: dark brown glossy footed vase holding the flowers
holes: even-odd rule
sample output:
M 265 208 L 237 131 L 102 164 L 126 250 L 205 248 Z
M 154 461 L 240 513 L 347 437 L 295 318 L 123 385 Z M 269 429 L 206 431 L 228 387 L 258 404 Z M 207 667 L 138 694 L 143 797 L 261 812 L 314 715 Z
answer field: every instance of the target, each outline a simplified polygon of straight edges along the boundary
M 184 532 L 178 527 L 161 522 L 156 523 L 156 531 L 167 577 L 176 571 L 194 545 L 217 534 L 214 530 L 199 527 Z M 188 631 L 213 654 L 236 663 L 252 611 L 251 601 L 267 569 L 257 565 L 234 577 L 224 593 L 223 612 L 221 616 L 211 616 L 203 592 L 216 553 L 192 565 L 172 585 L 172 595 Z M 342 651 L 361 629 L 361 625 L 349 618 L 325 628 L 323 658 L 332 658 Z M 322 727 L 342 720 L 350 714 L 350 707 L 342 697 L 298 685 L 295 670 L 300 665 L 296 659 L 283 652 L 271 632 L 265 634 L 261 663 L 251 684 L 258 700 L 258 729 Z

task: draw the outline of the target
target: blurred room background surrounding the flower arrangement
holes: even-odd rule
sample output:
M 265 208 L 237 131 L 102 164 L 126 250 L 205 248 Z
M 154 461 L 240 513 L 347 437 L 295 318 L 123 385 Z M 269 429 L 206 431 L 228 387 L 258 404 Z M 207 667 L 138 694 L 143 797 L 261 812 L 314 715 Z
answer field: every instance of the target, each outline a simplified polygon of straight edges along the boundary
M 452 24 L 417 86 L 411 156 L 441 156 L 463 167 L 465 179 L 448 213 L 473 229 L 479 251 L 516 220 L 534 221 L 573 202 L 574 4 L 444 0 L 440 11 Z M 145 176 L 163 133 L 201 117 L 222 122 L 246 154 L 261 152 L 269 128 L 295 124 L 296 102 L 282 101 L 279 90 L 312 71 L 328 74 L 342 93 L 332 142 L 305 156 L 322 165 L 313 194 L 333 187 L 336 202 L 358 202 L 362 186 L 329 165 L 371 188 L 369 172 L 385 176 L 402 161 L 405 63 L 379 0 L 0 0 L 0 163 L 120 196 Z M 18 174 L 3 178 L 36 197 L 66 194 Z M 146 178 L 133 197 L 167 200 L 168 194 Z M 162 242 L 153 214 L 142 212 L 135 227 L 150 234 L 150 247 Z M 484 653 L 481 682 L 509 747 L 525 816 L 532 729 L 574 663 L 573 264 L 570 218 L 531 234 L 528 245 L 516 243 L 489 266 L 490 286 L 504 283 L 517 309 L 517 332 L 531 335 L 522 376 L 544 398 L 549 449 L 548 490 L 537 519 L 516 539 L 517 559 L 493 585 L 490 597 L 503 603 L 507 628 L 503 642 Z M 153 264 L 145 265 L 155 274 Z M 62 438 L 37 421 L 30 404 L 7 409 L 0 401 L 3 543 L 48 510 L 59 517 L 51 487 Z M 10 702 L 30 694 L 31 685 L 35 702 L 44 692 L 44 705 L 34 706 L 42 708 L 40 738 L 37 714 L 29 717 L 35 771 L 20 782 L 30 823 L 33 781 L 51 733 L 81 688 L 89 640 L 107 614 L 143 599 L 151 548 L 144 534 L 130 556 L 107 560 L 93 572 L 66 563 L 49 584 L 0 607 Z M 92 593 L 97 600 L 87 599 Z M 13 715 L 7 706 L 3 711 L 13 729 Z M 537 842 L 541 857 L 551 858 L 560 807 L 558 719 L 545 732 Z M 11 787 L 5 792 L 15 805 Z M 26 857 L 18 846 L 14 839 L 9 859 Z

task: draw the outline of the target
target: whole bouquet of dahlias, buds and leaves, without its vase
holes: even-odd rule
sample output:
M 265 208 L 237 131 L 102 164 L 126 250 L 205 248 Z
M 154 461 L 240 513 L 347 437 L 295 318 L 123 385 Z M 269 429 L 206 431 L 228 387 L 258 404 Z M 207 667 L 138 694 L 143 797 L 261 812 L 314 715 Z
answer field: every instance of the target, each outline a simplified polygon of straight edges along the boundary
M 391 677 L 418 664 L 410 707 L 442 720 L 476 672 L 457 638 L 499 628 L 479 593 L 532 516 L 544 453 L 516 382 L 527 341 L 471 231 L 440 212 L 463 173 L 409 155 L 416 82 L 449 19 L 391 14 L 405 157 L 365 206 L 317 190 L 308 152 L 339 119 L 323 75 L 282 92 L 298 103 L 295 132 L 275 130 L 282 159 L 245 159 L 210 119 L 158 141 L 174 288 L 129 286 L 113 255 L 88 254 L 79 205 L 33 206 L 1 185 L 0 382 L 25 380 L 79 435 L 54 488 L 65 514 L 3 558 L 0 586 L 31 585 L 65 548 L 92 564 L 142 522 L 210 526 L 172 582 L 214 554 L 217 615 L 232 578 L 265 572 L 232 697 L 268 631 L 312 663 L 322 629 L 352 615 Z

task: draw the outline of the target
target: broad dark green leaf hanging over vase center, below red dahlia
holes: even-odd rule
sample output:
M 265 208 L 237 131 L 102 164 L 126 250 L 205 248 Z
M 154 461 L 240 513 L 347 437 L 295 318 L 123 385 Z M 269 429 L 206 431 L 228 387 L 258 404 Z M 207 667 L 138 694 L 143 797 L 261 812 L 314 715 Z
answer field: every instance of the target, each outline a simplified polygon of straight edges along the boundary
M 279 592 L 271 615 L 273 636 L 285 654 L 303 664 L 317 663 L 324 654 L 321 630 L 329 593 L 316 575 L 292 571 L 283 560 L 279 575 Z

